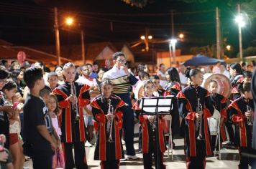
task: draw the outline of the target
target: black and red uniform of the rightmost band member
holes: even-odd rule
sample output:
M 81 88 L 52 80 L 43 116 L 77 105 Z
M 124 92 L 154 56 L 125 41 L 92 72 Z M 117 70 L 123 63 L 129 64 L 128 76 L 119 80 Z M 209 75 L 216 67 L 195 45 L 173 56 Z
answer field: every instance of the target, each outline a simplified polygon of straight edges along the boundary
M 245 100 L 244 97 L 239 97 L 229 105 L 229 117 L 235 124 L 234 145 L 239 147 L 239 168 L 252 166 L 254 160 L 242 153 L 256 154 L 256 150 L 252 149 L 252 126 L 248 125 L 247 117 L 244 115 L 247 112 L 247 106 L 251 107 L 252 111 L 254 110 L 253 100 Z

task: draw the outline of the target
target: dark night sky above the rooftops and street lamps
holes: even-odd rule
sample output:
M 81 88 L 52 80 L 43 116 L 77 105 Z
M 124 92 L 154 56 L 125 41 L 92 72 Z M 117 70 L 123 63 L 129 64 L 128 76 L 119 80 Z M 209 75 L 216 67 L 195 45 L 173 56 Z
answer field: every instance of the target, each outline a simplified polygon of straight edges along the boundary
M 201 4 L 155 0 L 142 9 L 129 6 L 121 0 L 1 1 L 0 38 L 24 46 L 54 45 L 54 6 L 58 7 L 59 24 L 62 25 L 61 44 L 80 44 L 78 32 L 81 29 L 85 32 L 86 43 L 136 42 L 145 34 L 146 27 L 155 40 L 170 39 L 170 11 L 173 10 L 175 36 L 180 32 L 185 34 L 184 41 L 177 46 L 186 52 L 189 52 L 190 47 L 216 43 L 215 7 L 219 6 L 221 34 L 227 39 L 227 44 L 232 44 L 238 50 L 238 30 L 234 23 L 236 6 L 228 6 L 226 1 L 219 1 L 218 4 L 216 0 Z M 76 25 L 70 28 L 64 26 L 64 16 L 74 16 Z M 253 20 L 243 29 L 244 48 L 253 45 L 256 39 L 254 29 Z M 166 47 L 168 44 L 155 44 L 155 48 Z

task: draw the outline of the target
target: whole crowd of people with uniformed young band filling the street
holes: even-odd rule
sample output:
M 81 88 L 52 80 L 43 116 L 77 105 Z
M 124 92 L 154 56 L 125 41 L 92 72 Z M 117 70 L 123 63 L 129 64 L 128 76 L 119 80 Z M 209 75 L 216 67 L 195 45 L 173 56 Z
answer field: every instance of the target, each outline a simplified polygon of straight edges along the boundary
M 165 168 L 163 153 L 167 146 L 175 148 L 177 135 L 184 138 L 187 168 L 206 168 L 206 157 L 216 149 L 208 118 L 218 115 L 221 143 L 228 141 L 227 147 L 239 149 L 239 168 L 256 168 L 256 159 L 250 156 L 256 155 L 256 96 L 251 84 L 255 61 L 218 62 L 200 69 L 183 64 L 165 69 L 160 64 L 150 72 L 147 64 L 130 69 L 125 55 L 116 52 L 113 64 L 106 59 L 104 67 L 68 62 L 51 72 L 40 61 L 0 64 L 0 168 L 22 169 L 32 158 L 35 169 L 84 169 L 85 146 L 93 145 L 101 168 L 119 168 L 122 160 L 139 159 L 134 121 L 140 122 L 137 152 L 143 155 L 144 168 L 152 168 L 153 159 L 156 168 Z M 209 73 L 230 79 L 230 97 L 217 93 L 216 79 L 207 89 L 201 87 Z M 175 96 L 170 115 L 156 119 L 142 113 L 142 98 L 169 95 Z

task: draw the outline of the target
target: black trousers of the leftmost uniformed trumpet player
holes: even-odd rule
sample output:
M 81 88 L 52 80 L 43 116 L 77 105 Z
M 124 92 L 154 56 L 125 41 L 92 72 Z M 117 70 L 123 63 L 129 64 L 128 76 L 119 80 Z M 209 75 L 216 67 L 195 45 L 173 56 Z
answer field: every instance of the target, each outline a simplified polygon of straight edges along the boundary
M 87 169 L 86 161 L 86 148 L 84 147 L 84 142 L 76 143 L 63 143 L 63 150 L 65 155 L 65 169 Z M 75 163 L 73 158 L 73 148 L 75 152 Z

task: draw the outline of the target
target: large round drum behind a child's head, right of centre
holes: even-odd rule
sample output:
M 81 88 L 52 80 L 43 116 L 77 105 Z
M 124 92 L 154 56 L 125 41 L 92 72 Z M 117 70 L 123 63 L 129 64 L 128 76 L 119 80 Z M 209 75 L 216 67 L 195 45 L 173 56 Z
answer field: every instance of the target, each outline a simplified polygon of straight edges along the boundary
M 229 78 L 227 78 L 224 74 L 207 75 L 208 76 L 204 76 L 204 81 L 201 84 L 201 87 L 204 87 L 206 90 L 209 90 L 209 82 L 211 82 L 211 80 L 215 80 L 218 84 L 217 93 L 219 93 L 219 95 L 223 95 L 226 98 L 229 98 L 232 90 Z

